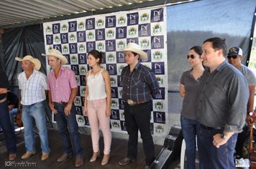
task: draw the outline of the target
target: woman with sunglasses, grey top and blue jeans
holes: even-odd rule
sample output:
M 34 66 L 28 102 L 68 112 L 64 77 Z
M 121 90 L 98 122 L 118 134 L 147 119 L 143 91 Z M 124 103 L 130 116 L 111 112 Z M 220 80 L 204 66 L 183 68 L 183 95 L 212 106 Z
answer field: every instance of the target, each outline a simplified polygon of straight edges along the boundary
M 196 92 L 204 72 L 202 49 L 192 47 L 188 53 L 188 63 L 192 67 L 183 72 L 180 79 L 180 96 L 183 97 L 183 107 L 180 115 L 181 130 L 186 143 L 187 168 L 196 168 Z

